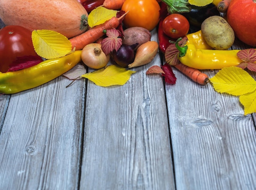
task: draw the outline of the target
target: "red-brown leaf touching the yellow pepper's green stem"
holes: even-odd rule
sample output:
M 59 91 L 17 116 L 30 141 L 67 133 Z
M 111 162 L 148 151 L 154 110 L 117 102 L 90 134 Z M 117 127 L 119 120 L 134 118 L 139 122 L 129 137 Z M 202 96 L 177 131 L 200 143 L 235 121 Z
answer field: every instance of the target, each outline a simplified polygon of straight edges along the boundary
M 179 45 L 183 47 L 186 44 L 187 40 L 188 40 L 188 38 L 185 36 L 179 42 Z M 166 51 L 165 51 L 165 54 L 164 54 L 166 62 L 170 65 L 179 64 L 180 61 L 178 60 L 178 54 L 179 54 L 179 50 L 176 48 L 175 43 L 169 45 L 166 48 Z

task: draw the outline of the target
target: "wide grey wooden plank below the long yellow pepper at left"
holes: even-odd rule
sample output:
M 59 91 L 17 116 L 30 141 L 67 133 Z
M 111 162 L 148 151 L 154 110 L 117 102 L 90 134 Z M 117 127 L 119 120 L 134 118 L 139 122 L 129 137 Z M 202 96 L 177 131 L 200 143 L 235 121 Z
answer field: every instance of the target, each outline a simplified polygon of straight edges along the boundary
M 77 189 L 85 82 L 61 76 L 11 95 L 0 135 L 0 189 Z

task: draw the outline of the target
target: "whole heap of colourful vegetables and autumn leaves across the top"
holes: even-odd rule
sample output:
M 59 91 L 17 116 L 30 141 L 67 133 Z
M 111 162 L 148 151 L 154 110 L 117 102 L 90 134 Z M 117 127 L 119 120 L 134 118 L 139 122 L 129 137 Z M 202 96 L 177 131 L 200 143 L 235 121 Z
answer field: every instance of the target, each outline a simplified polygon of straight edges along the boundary
M 239 95 L 245 114 L 256 112 L 256 106 L 248 108 L 256 104 L 248 103 L 256 86 L 243 94 L 223 91 L 228 84 L 239 89 L 246 70 L 256 71 L 256 0 L 59 1 L 44 1 L 53 6 L 38 14 L 26 8 L 38 0 L 26 7 L 0 0 L 6 25 L 0 29 L 0 93 L 25 91 L 60 75 L 72 82 L 85 77 L 100 86 L 124 85 L 136 72 L 131 68 L 161 53 L 166 63 L 150 67 L 147 75 L 160 74 L 175 84 L 174 67 L 200 85 L 211 82 L 220 93 Z M 151 41 L 153 29 L 158 42 Z M 250 48 L 231 50 L 235 38 Z M 87 67 L 95 71 L 87 73 Z M 204 69 L 220 73 L 209 79 Z M 229 69 L 236 82 L 230 81 Z

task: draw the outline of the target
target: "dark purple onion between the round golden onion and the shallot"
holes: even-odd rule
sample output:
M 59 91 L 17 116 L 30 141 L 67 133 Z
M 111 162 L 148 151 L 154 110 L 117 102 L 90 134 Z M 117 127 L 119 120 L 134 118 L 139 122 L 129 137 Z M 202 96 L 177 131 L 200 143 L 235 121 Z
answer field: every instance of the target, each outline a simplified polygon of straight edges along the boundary
M 131 64 L 134 61 L 134 49 L 137 47 L 138 44 L 139 43 L 132 45 L 122 44 L 117 51 L 114 50 L 113 58 L 115 62 L 122 67 L 128 67 L 128 64 Z

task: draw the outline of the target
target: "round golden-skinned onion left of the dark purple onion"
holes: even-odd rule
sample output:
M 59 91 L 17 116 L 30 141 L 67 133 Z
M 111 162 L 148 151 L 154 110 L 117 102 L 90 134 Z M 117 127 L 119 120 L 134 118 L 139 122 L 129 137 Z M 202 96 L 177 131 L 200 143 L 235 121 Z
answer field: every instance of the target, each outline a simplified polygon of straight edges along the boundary
M 101 49 L 101 44 L 91 43 L 83 48 L 81 58 L 86 66 L 100 69 L 108 64 L 110 55 L 105 55 Z

